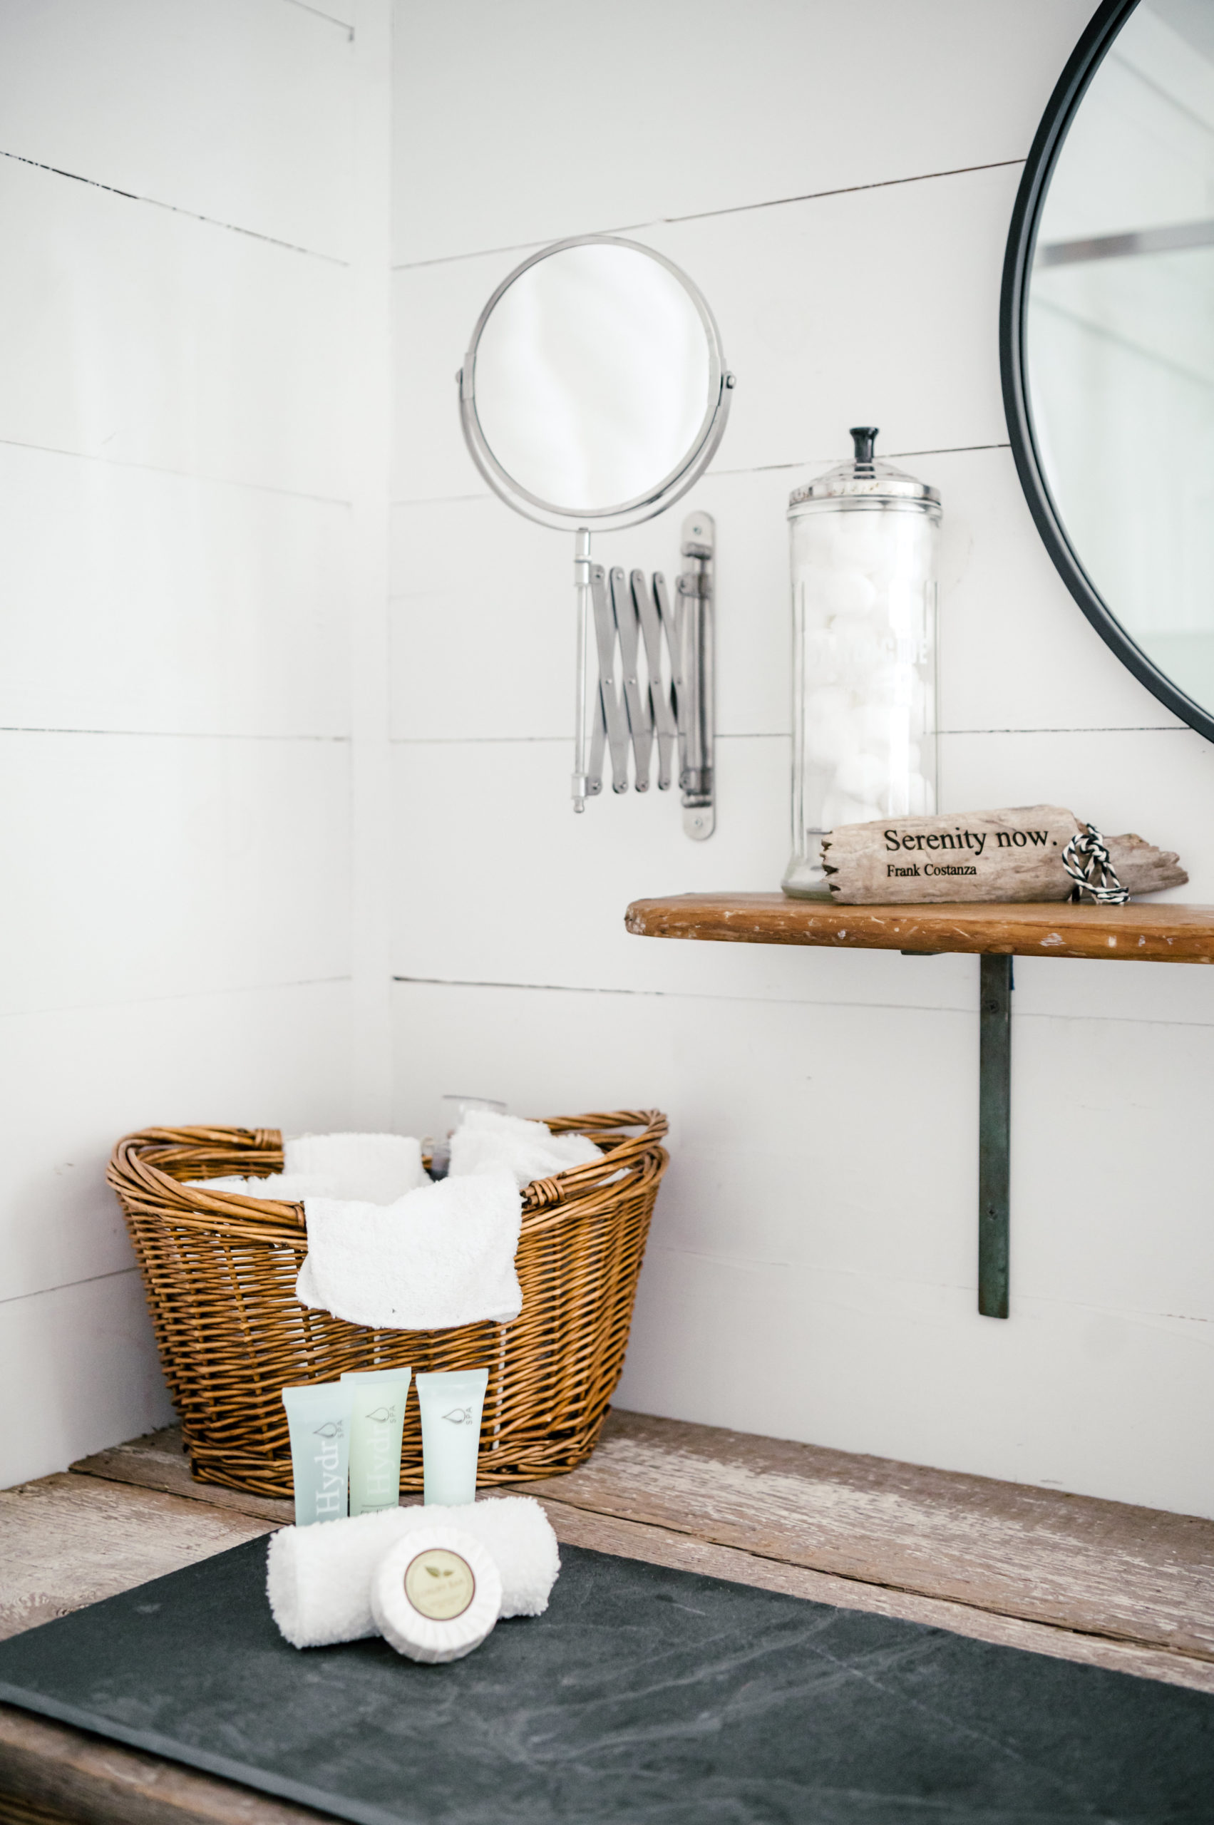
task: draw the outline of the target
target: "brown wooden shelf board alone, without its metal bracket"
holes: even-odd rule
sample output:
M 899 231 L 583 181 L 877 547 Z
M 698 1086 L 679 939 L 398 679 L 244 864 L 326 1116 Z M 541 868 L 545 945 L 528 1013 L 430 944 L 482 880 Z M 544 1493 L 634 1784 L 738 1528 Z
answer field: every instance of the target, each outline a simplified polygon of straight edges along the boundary
M 624 925 L 639 938 L 1214 964 L 1214 907 L 1198 905 L 838 907 L 785 894 L 677 894 L 633 900 Z

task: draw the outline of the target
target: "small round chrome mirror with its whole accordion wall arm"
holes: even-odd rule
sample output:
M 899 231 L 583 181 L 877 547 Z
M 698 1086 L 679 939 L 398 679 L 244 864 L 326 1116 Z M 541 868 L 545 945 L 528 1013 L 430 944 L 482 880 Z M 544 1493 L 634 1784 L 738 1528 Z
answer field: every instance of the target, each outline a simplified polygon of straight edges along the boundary
M 575 535 L 573 808 L 672 783 L 683 827 L 714 829 L 716 527 L 683 520 L 674 600 L 661 571 L 610 573 L 591 533 L 665 513 L 705 473 L 734 376 L 699 288 L 637 241 L 579 235 L 524 259 L 476 319 L 458 374 L 473 462 L 517 513 Z M 632 781 L 628 777 L 632 757 Z

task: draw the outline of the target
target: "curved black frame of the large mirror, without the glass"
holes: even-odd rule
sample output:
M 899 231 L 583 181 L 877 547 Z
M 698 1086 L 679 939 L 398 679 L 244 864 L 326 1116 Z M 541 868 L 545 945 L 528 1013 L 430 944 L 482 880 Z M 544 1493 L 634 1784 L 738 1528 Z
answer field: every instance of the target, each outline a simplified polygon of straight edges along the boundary
M 1041 119 L 1033 146 L 1024 166 L 1024 177 L 1017 192 L 1011 212 L 1011 230 L 1008 234 L 1008 252 L 1004 257 L 1004 279 L 999 299 L 999 365 L 1002 370 L 1004 412 L 1008 414 L 1008 434 L 1015 458 L 1020 485 L 1028 500 L 1030 513 L 1037 522 L 1046 551 L 1053 558 L 1062 582 L 1079 602 L 1081 610 L 1117 659 L 1134 677 L 1152 692 L 1159 703 L 1167 704 L 1174 715 L 1196 728 L 1207 741 L 1214 741 L 1214 712 L 1203 710 L 1199 703 L 1187 697 L 1143 648 L 1121 626 L 1104 597 L 1088 577 L 1083 562 L 1072 546 L 1062 516 L 1050 495 L 1050 484 L 1037 454 L 1033 436 L 1033 414 L 1028 398 L 1024 365 L 1024 305 L 1028 276 L 1033 265 L 1037 245 L 1037 226 L 1041 208 L 1053 177 L 1059 153 L 1075 119 L 1079 104 L 1086 95 L 1092 77 L 1104 60 L 1117 33 L 1137 7 L 1137 0 L 1103 0 L 1092 15 L 1088 27 L 1075 46 L 1075 51 L 1059 77 L 1057 88 Z

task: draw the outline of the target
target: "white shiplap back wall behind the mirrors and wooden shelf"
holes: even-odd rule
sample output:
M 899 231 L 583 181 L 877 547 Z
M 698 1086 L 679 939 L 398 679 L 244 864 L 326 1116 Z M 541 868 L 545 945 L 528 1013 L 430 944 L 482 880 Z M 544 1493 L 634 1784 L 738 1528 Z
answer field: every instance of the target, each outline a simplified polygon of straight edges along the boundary
M 977 962 L 624 936 L 787 858 L 789 489 L 845 427 L 944 495 L 944 805 L 1055 799 L 1214 900 L 1214 750 L 1079 615 L 999 394 L 1022 159 L 1090 0 L 398 0 L 394 1117 L 444 1090 L 672 1117 L 621 1402 L 1214 1513 L 1214 973 L 1017 964 L 1013 1318 L 975 1312 Z M 570 540 L 487 496 L 453 374 L 546 239 L 705 288 L 739 387 L 719 526 L 719 829 L 568 810 Z M 681 509 L 679 509 L 681 511 Z M 604 538 L 675 558 L 677 513 Z

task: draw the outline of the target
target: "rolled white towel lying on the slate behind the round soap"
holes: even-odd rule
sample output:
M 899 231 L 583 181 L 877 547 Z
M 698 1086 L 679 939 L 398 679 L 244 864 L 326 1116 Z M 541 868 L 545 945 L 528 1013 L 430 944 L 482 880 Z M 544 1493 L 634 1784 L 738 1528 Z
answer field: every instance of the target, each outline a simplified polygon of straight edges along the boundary
M 376 1633 L 371 1584 L 396 1540 L 447 1520 L 475 1535 L 502 1577 L 502 1615 L 542 1615 L 560 1571 L 557 1535 L 533 1495 L 491 1496 L 464 1507 L 389 1507 L 352 1520 L 283 1528 L 270 1540 L 267 1595 L 296 1648 L 329 1648 Z

